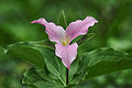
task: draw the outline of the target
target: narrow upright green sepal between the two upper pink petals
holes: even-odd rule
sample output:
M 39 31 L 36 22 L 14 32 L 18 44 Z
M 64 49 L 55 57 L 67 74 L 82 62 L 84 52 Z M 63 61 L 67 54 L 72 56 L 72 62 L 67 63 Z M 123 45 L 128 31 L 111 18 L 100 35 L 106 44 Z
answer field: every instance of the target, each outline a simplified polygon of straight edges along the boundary
M 59 12 L 57 24 L 61 25 L 61 26 L 63 26 L 64 29 L 66 29 L 66 26 L 67 26 L 66 15 L 64 13 L 64 10 L 62 10 Z

